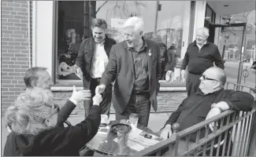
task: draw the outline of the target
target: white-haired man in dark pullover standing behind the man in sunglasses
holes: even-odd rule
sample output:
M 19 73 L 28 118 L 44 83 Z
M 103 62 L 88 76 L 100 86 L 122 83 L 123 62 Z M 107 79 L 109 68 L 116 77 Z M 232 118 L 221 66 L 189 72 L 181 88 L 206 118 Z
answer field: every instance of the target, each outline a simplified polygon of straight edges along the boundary
M 187 68 L 187 97 L 199 90 L 199 78 L 203 71 L 213 67 L 213 62 L 218 68 L 224 69 L 224 62 L 221 59 L 219 49 L 212 42 L 207 41 L 209 29 L 200 27 L 196 31 L 195 41 L 187 46 L 183 64 L 181 67 L 181 76 L 184 78 L 185 69 Z

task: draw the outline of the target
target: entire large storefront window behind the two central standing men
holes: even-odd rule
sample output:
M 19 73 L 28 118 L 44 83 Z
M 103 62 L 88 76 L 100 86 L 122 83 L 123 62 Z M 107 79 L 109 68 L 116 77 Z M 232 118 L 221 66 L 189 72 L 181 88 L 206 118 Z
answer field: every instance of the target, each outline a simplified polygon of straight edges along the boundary
M 161 46 L 161 80 L 180 82 L 180 65 L 186 53 L 191 1 L 58 2 L 58 79 L 78 79 L 72 68 L 80 43 L 90 37 L 89 16 L 105 19 L 107 35 L 123 41 L 121 27 L 130 16 L 142 17 L 144 37 Z

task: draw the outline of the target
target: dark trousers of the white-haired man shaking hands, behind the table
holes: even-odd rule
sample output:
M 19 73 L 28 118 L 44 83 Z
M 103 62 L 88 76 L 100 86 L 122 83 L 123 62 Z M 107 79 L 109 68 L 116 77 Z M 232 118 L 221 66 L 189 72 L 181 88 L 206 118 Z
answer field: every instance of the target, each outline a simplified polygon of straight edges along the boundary
M 131 113 L 138 114 L 138 123 L 147 127 L 148 120 L 150 119 L 150 93 L 132 93 L 124 112 L 121 114 L 116 112 L 116 120 L 129 119 Z

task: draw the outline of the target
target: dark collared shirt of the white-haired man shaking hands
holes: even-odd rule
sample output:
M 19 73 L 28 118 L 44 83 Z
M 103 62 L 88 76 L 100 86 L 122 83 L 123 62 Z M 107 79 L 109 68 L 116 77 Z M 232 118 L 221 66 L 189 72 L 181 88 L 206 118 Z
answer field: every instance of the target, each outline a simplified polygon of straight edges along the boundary
M 139 52 L 129 48 L 135 71 L 135 83 L 133 90 L 135 93 L 147 93 L 149 91 L 148 61 L 147 61 L 147 42 L 143 39 L 143 46 Z

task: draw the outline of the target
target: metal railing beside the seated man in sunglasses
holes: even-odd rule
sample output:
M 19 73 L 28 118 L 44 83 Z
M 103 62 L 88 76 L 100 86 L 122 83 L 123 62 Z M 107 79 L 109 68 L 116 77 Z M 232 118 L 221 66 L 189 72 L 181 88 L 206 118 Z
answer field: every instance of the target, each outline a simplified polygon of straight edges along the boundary
M 248 86 L 228 82 L 225 89 L 230 88 L 253 93 Z M 224 111 L 218 116 L 181 130 L 176 133 L 176 138 L 161 141 L 135 156 L 247 156 L 250 138 L 255 131 L 253 127 L 256 127 L 255 114 L 255 104 L 252 111 Z

